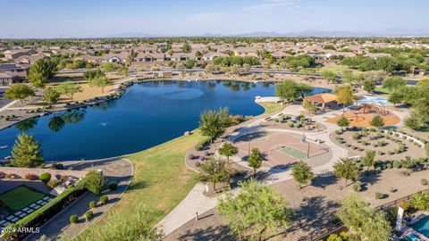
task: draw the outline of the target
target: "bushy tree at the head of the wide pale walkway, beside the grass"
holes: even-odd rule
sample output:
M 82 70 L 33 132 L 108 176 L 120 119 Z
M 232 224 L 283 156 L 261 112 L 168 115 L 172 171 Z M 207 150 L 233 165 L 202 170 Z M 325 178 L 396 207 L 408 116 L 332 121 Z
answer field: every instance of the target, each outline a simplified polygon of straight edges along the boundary
M 199 168 L 201 171 L 198 174 L 198 180 L 206 184 L 213 184 L 214 190 L 216 190 L 217 183 L 231 180 L 231 170 L 223 160 L 211 157 L 202 162 Z

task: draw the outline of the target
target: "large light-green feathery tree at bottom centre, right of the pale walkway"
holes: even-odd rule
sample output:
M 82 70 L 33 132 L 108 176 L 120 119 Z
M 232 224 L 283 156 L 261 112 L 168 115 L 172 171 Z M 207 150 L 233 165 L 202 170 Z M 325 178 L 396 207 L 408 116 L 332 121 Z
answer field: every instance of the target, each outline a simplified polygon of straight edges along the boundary
M 290 226 L 292 212 L 287 201 L 273 187 L 250 179 L 240 182 L 241 192 L 231 192 L 219 199 L 219 213 L 227 220 L 231 233 L 251 240 L 262 240 L 266 232 L 273 233 Z

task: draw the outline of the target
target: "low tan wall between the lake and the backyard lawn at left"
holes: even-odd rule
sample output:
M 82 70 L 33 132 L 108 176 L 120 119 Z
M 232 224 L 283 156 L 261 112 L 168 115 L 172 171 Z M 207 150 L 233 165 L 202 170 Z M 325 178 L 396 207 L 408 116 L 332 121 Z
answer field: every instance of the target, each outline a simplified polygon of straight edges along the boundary
M 40 176 L 42 173 L 48 172 L 52 177 L 55 175 L 61 176 L 72 176 L 81 179 L 87 175 L 88 171 L 84 170 L 54 170 L 54 169 L 42 169 L 42 168 L 15 168 L 15 167 L 0 167 L 0 171 L 4 174 L 15 174 L 20 176 L 22 179 L 26 174 L 34 174 Z

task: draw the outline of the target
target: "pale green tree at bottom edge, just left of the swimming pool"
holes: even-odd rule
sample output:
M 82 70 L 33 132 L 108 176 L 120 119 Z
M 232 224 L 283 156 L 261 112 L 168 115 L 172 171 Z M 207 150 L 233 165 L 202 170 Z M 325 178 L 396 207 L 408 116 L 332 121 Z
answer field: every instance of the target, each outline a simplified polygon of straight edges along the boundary
M 385 241 L 391 236 L 391 224 L 383 211 L 375 211 L 358 195 L 341 200 L 338 217 L 358 240 Z

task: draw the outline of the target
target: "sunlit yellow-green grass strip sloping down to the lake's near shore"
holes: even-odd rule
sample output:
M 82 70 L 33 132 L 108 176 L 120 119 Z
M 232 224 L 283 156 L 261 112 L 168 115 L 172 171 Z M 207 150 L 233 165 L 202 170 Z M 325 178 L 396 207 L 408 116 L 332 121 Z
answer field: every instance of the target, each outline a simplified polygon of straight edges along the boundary
M 146 218 L 151 220 L 151 225 L 162 220 L 195 186 L 196 173 L 187 170 L 184 156 L 189 148 L 203 139 L 197 130 L 190 136 L 178 137 L 146 151 L 124 156 L 134 167 L 129 189 L 114 207 L 114 214 L 109 213 L 77 239 L 95 240 L 98 234 L 112 229 L 105 222 L 114 222 L 118 216 L 124 221 L 136 219 L 137 210 L 143 208 L 148 210 Z

